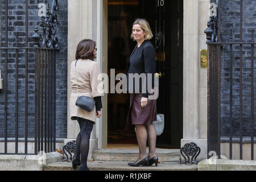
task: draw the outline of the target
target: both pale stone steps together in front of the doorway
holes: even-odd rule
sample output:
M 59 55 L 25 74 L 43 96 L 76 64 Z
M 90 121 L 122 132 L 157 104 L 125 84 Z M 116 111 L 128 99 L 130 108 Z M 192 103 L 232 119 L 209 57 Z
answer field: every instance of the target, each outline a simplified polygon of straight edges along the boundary
M 179 164 L 179 149 L 156 148 L 156 155 L 159 158 L 158 167 L 155 167 L 155 164 L 150 167 L 128 166 L 129 162 L 134 162 L 138 159 L 138 154 L 138 148 L 102 148 L 93 151 L 93 160 L 88 160 L 87 164 L 90 171 L 197 171 L 197 165 L 195 164 Z M 55 162 L 43 166 L 43 171 L 72 170 L 71 162 Z

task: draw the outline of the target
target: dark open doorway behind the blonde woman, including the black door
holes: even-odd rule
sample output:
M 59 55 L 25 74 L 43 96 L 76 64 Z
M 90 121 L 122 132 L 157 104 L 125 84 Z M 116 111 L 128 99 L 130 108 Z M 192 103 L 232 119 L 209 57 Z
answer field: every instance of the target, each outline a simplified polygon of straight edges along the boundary
M 183 0 L 109 0 L 108 72 L 125 73 L 136 42 L 130 39 L 133 22 L 145 18 L 156 48 L 159 78 L 158 113 L 164 114 L 164 133 L 157 147 L 180 148 L 183 134 Z M 159 33 L 160 32 L 160 33 Z M 162 35 L 159 42 L 156 38 Z M 115 84 L 117 84 L 116 81 Z M 134 130 L 124 131 L 129 94 L 108 94 L 108 143 L 137 143 Z

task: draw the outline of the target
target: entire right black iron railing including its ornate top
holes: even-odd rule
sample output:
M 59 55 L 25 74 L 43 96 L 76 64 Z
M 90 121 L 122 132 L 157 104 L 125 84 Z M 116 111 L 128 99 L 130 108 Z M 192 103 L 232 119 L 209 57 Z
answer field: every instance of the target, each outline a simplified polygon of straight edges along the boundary
M 234 41 L 233 28 L 230 27 L 229 40 L 222 42 L 221 40 L 221 0 L 215 1 L 217 7 L 216 16 L 211 16 L 208 22 L 208 28 L 205 30 L 207 34 L 207 44 L 208 44 L 208 158 L 210 151 L 216 151 L 218 158 L 221 155 L 221 143 L 229 143 L 229 158 L 233 159 L 232 156 L 232 144 L 240 144 L 240 159 L 243 159 L 243 143 L 250 143 L 251 146 L 251 160 L 254 160 L 254 140 L 255 132 L 255 114 L 254 114 L 254 29 L 251 30 L 251 39 L 247 42 L 243 41 L 243 0 L 240 1 L 240 40 Z M 218 8 L 219 7 L 219 8 Z M 250 87 L 250 93 L 247 96 L 250 97 L 250 117 L 246 118 L 243 111 L 243 58 L 245 58 L 245 53 L 243 52 L 243 46 L 250 47 L 250 65 L 246 65 L 246 69 L 250 69 L 250 82 L 246 82 Z M 236 47 L 236 49 L 234 48 Z M 239 47 L 239 48 L 237 48 Z M 227 49 L 229 52 L 229 123 L 228 123 L 228 136 L 221 133 L 221 51 Z M 238 50 L 239 49 L 239 50 Z M 235 55 L 236 54 L 236 55 Z M 239 116 L 237 116 L 234 110 L 234 72 L 233 60 L 240 60 L 239 63 Z M 238 69 L 238 68 L 237 68 Z M 236 76 L 237 77 L 237 76 Z M 247 76 L 247 80 L 248 80 Z M 244 120 L 250 121 L 250 124 L 246 123 Z M 237 127 L 239 126 L 239 127 Z M 228 139 L 227 139 L 228 138 Z M 245 141 L 246 140 L 246 141 Z M 213 154 L 212 152 L 210 152 Z

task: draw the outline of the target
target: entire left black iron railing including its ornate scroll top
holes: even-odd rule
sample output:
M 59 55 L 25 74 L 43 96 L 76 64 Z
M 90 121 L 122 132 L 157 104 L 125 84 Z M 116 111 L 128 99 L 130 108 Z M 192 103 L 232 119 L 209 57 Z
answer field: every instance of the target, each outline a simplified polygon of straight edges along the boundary
M 55 37 L 57 28 L 57 1 L 52 1 L 51 11 L 47 6 L 46 17 L 41 18 L 40 26 L 43 36 L 38 35 L 38 27 L 32 38 L 34 47 L 28 47 L 28 0 L 26 1 L 26 38 L 25 47 L 19 46 L 19 32 L 16 32 L 15 46 L 9 47 L 8 38 L 8 0 L 5 1 L 5 43 L 0 47 L 4 57 L 3 89 L 0 94 L 5 97 L 4 108 L 4 152 L 1 154 L 35 154 L 39 151 L 53 152 L 56 148 L 56 54 L 58 40 Z M 40 44 L 40 41 L 43 43 Z M 51 48 L 51 46 L 53 48 Z M 3 61 L 2 61 L 3 62 Z M 15 63 L 15 68 L 13 68 Z M 11 69 L 9 68 L 11 67 Z M 24 72 L 22 72 L 24 70 Z M 9 72 L 15 77 L 9 78 Z M 22 72 L 22 73 L 20 73 Z M 28 77 L 30 76 L 30 77 Z M 10 84 L 11 82 L 11 84 Z M 13 84 L 14 83 L 14 84 Z M 20 84 L 22 83 L 22 84 Z M 10 90 L 10 85 L 15 89 Z M 24 86 L 24 88 L 23 88 Z M 24 91 L 24 94 L 23 94 Z M 20 93 L 19 93 L 20 92 Z M 15 101 L 9 96 L 14 96 Z M 20 97 L 20 95 L 22 95 Z M 22 102 L 22 104 L 20 104 Z M 32 106 L 31 102 L 33 103 Z M 10 105 L 14 103 L 14 105 Z M 14 107 L 14 108 L 13 108 Z M 20 107 L 24 107 L 20 109 Z M 14 116 L 10 114 L 15 113 Z M 15 127 L 10 124 L 14 121 Z M 24 121 L 22 121 L 24 119 Z M 24 123 L 23 123 L 24 122 Z M 24 124 L 24 129 L 20 125 Z M 31 128 L 33 129 L 31 131 Z M 15 133 L 12 131 L 15 130 Z M 22 131 L 20 133 L 19 131 Z M 12 138 L 10 138 L 10 136 Z M 14 138 L 15 137 L 15 138 Z M 13 139 L 14 138 L 14 139 Z M 15 151 L 10 152 L 9 142 L 15 142 Z M 24 142 L 24 151 L 19 152 L 19 142 Z M 28 151 L 28 142 L 34 142 L 34 151 Z

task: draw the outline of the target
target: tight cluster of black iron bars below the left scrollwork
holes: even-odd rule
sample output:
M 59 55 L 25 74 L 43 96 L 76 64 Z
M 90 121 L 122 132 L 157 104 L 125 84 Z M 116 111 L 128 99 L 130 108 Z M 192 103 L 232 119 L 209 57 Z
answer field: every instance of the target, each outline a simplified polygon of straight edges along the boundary
M 56 49 L 36 48 L 35 152 L 55 151 L 56 146 Z

